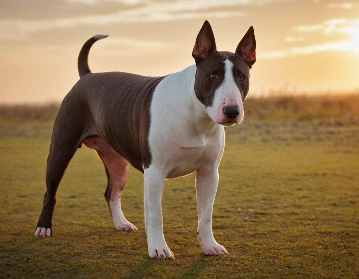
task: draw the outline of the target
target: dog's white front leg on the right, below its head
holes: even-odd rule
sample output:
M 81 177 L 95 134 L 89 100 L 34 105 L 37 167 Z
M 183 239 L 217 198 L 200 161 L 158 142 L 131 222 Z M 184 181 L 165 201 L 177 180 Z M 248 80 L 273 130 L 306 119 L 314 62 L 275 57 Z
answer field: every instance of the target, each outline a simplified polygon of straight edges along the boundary
M 212 231 L 212 211 L 218 186 L 218 167 L 203 166 L 196 171 L 196 195 L 199 240 L 206 255 L 225 255 L 227 250 L 218 244 Z

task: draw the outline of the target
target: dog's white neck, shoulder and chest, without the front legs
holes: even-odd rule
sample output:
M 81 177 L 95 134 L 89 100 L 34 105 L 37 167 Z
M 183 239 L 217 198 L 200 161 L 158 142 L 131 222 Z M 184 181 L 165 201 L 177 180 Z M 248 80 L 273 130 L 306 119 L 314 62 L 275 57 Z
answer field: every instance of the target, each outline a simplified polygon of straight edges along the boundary
M 166 178 L 218 165 L 224 148 L 224 128 L 208 116 L 194 93 L 195 67 L 163 79 L 153 92 L 148 145 L 151 165 Z

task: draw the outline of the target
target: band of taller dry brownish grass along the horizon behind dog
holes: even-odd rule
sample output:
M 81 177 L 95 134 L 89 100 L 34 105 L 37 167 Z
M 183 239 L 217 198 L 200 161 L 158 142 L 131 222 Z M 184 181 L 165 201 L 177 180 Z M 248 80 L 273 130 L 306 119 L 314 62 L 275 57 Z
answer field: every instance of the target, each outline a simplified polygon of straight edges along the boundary
M 359 93 L 334 96 L 271 96 L 248 98 L 246 121 L 326 120 L 359 123 Z M 60 104 L 0 105 L 0 121 L 52 121 Z

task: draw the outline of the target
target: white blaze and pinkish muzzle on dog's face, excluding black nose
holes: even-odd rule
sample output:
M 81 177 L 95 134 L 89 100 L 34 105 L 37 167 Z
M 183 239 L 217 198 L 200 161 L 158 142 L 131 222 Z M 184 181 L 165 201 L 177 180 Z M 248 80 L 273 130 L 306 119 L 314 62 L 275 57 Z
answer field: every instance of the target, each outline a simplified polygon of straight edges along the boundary
M 233 77 L 233 63 L 228 59 L 224 61 L 224 79 L 222 85 L 218 87 L 214 94 L 213 105 L 207 107 L 208 115 L 216 123 L 228 123 L 230 121 L 223 113 L 223 108 L 228 105 L 236 105 L 239 108 L 239 114 L 231 119 L 233 124 L 239 124 L 244 117 L 242 94 L 239 91 Z M 233 125 L 228 123 L 226 125 Z

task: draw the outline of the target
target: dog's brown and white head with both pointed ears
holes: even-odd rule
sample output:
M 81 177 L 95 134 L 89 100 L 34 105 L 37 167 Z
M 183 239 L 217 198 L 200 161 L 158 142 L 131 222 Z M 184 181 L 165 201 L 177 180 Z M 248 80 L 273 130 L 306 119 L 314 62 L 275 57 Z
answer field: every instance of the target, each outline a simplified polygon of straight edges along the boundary
M 249 71 L 256 62 L 256 39 L 251 26 L 234 53 L 217 51 L 206 20 L 198 33 L 192 56 L 196 61 L 195 93 L 216 123 L 242 122 L 243 102 L 249 89 Z

